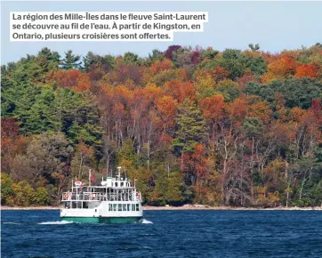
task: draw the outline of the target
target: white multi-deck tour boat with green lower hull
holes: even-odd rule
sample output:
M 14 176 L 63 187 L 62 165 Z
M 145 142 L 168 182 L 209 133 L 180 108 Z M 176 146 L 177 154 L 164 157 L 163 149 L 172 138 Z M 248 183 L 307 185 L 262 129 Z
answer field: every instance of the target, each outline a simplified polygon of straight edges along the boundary
M 121 167 L 117 176 L 102 178 L 100 186 L 92 186 L 81 181 L 72 183 L 71 190 L 62 194 L 64 208 L 60 210 L 60 221 L 93 223 L 133 223 L 140 222 L 143 212 L 141 193 L 131 181 L 121 177 Z

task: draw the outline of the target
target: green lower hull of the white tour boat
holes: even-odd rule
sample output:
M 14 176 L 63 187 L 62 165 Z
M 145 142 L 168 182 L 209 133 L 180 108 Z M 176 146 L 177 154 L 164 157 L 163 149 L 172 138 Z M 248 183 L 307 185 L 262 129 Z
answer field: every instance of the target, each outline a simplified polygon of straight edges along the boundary
M 60 221 L 64 222 L 82 222 L 82 223 L 105 223 L 105 224 L 123 224 L 139 222 L 141 217 L 61 217 Z

